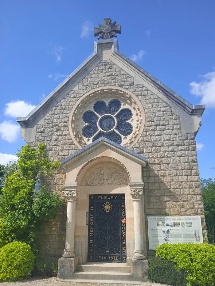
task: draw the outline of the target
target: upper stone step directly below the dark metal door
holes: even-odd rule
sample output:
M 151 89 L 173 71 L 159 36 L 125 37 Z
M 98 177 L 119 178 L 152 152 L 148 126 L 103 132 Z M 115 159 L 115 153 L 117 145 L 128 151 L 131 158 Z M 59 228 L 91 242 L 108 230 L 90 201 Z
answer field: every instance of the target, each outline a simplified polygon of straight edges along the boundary
M 131 273 L 131 266 L 126 263 L 112 263 L 112 262 L 87 262 L 83 265 L 77 265 L 77 271 L 88 272 L 129 272 Z

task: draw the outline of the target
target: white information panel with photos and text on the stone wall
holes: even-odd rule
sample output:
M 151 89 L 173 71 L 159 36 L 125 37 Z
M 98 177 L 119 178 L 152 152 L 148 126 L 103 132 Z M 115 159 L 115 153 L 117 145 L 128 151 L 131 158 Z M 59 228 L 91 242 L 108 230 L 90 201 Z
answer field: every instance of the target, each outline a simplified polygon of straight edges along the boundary
M 148 215 L 149 249 L 163 243 L 203 242 L 200 216 Z

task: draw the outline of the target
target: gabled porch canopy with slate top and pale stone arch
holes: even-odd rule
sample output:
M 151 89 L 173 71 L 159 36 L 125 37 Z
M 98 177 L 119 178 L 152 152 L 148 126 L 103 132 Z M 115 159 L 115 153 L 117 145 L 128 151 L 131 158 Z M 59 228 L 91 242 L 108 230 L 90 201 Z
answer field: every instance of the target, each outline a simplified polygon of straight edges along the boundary
M 101 137 L 61 161 L 61 166 L 66 168 L 66 185 L 77 184 L 80 173 L 92 160 L 97 159 L 98 164 L 101 164 L 107 158 L 110 161 L 118 162 L 127 171 L 130 182 L 143 181 L 142 166 L 147 165 L 147 159 L 126 147 Z

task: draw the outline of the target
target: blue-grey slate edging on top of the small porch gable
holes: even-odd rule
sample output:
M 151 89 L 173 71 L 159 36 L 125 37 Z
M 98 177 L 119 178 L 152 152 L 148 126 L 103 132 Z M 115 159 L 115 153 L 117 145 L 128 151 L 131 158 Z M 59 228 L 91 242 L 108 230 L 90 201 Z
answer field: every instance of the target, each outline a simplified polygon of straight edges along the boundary
M 84 151 L 88 150 L 89 148 L 95 146 L 96 144 L 98 144 L 98 143 L 101 142 L 101 141 L 104 141 L 104 142 L 106 142 L 106 143 L 112 145 L 113 147 L 116 147 L 116 148 L 120 149 L 121 151 L 124 151 L 124 152 L 130 154 L 131 156 L 136 157 L 137 159 L 139 159 L 139 160 L 141 160 L 141 161 L 143 161 L 143 162 L 147 162 L 147 158 L 146 158 L 146 157 L 144 157 L 144 156 L 142 156 L 142 155 L 140 155 L 140 154 L 138 154 L 138 153 L 136 153 L 136 152 L 134 152 L 134 151 L 132 151 L 132 150 L 126 148 L 126 147 L 123 147 L 123 146 L 121 146 L 121 145 L 119 145 L 119 144 L 117 144 L 117 143 L 115 143 L 115 142 L 113 142 L 113 141 L 111 141 L 111 140 L 109 140 L 109 139 L 107 139 L 107 138 L 105 138 L 105 137 L 100 137 L 100 138 L 97 139 L 96 141 L 94 141 L 94 142 L 90 143 L 89 145 L 85 146 L 84 148 L 82 148 L 82 149 L 76 151 L 74 154 L 68 156 L 67 158 L 65 158 L 65 159 L 63 159 L 63 160 L 61 160 L 61 165 L 65 164 L 66 162 L 68 162 L 68 161 L 71 160 L 72 158 L 75 158 L 75 157 L 78 156 L 79 154 L 81 154 L 81 153 L 83 153 Z

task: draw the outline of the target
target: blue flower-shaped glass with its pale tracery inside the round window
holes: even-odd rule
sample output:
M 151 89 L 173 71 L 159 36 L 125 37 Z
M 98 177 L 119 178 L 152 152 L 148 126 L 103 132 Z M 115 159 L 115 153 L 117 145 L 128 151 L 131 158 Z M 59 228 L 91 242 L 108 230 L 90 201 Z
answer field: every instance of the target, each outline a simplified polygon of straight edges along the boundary
M 125 104 L 124 104 L 125 105 Z M 124 108 L 119 100 L 111 100 L 109 103 L 97 101 L 93 110 L 86 111 L 83 121 L 86 124 L 82 129 L 82 135 L 93 142 L 100 137 L 121 144 L 123 136 L 127 137 L 133 132 L 133 113 L 130 109 Z

